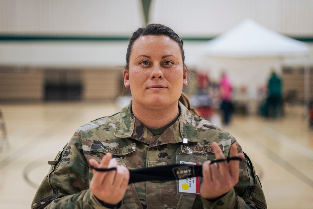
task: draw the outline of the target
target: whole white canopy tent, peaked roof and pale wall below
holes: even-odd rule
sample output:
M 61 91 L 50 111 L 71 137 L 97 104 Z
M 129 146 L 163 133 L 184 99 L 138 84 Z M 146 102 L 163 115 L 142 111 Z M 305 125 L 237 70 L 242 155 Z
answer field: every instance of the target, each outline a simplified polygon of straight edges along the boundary
M 300 41 L 271 31 L 251 19 L 200 45 L 203 69 L 218 80 L 226 72 L 234 87 L 248 88 L 248 97 L 256 98 L 272 70 L 280 74 L 284 58 L 305 57 L 309 47 Z

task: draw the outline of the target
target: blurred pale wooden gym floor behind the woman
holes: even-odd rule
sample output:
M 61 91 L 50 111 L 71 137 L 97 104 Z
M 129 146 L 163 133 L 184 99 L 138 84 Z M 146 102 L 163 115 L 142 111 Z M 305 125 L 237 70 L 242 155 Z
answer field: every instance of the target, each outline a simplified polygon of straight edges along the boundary
M 0 104 L 8 132 L 0 151 L 0 208 L 30 208 L 38 185 L 75 130 L 118 112 L 115 102 Z M 313 131 L 305 109 L 283 118 L 234 116 L 224 127 L 237 138 L 260 176 L 268 208 L 313 208 Z M 218 116 L 213 118 L 219 123 Z

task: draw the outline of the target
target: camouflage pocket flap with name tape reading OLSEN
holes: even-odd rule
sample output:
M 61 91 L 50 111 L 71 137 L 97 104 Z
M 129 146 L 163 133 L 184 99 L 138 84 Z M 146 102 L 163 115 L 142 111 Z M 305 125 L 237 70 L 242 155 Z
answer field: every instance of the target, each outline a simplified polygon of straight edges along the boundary
M 136 151 L 136 144 L 130 144 L 126 147 L 108 147 L 108 146 L 104 146 L 103 144 L 91 144 L 90 146 L 90 153 L 96 153 L 96 152 L 100 152 L 103 154 L 106 153 L 111 153 L 112 155 L 115 156 L 124 156 L 124 155 L 128 155 L 128 154 L 132 154 Z

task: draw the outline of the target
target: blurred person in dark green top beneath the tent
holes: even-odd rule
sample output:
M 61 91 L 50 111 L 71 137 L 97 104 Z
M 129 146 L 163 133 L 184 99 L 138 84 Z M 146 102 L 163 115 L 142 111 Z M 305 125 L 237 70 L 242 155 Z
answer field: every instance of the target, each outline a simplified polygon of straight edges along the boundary
M 262 114 L 265 117 L 272 116 L 273 118 L 277 118 L 282 102 L 282 81 L 275 71 L 273 71 L 269 77 L 267 93 L 268 95 L 262 109 Z

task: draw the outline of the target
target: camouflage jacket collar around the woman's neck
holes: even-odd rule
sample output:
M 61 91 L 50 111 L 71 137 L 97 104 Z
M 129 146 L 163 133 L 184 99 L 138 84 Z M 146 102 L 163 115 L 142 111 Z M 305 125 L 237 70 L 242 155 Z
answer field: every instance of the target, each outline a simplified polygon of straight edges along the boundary
M 156 141 L 160 141 L 157 145 L 160 145 L 160 143 L 179 143 L 182 142 L 184 137 L 188 138 L 188 141 L 190 142 L 199 142 L 198 130 L 194 117 L 181 102 L 178 101 L 178 106 L 180 108 L 180 116 L 178 120 L 168 128 L 158 140 L 156 140 L 150 131 L 135 118 L 131 111 L 131 106 L 132 102 L 120 112 L 120 118 L 114 133 L 117 138 L 133 138 L 147 144 L 155 144 Z

